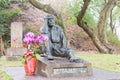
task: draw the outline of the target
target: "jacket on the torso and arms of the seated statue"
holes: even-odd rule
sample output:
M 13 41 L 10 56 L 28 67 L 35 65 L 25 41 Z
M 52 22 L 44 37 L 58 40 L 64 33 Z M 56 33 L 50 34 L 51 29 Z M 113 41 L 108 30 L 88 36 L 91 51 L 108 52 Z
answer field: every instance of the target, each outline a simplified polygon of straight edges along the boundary
M 55 25 L 49 30 L 48 26 L 43 26 L 40 32 L 48 35 L 52 43 L 61 43 L 61 47 L 66 47 L 66 38 L 61 27 Z

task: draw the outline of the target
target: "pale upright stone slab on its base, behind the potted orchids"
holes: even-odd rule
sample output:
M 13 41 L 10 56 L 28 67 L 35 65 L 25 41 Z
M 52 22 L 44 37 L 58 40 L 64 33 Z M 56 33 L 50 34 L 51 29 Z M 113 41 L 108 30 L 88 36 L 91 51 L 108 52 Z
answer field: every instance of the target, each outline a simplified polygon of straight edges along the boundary
M 18 60 L 27 49 L 22 48 L 23 25 L 22 22 L 11 23 L 11 47 L 7 48 L 6 60 Z

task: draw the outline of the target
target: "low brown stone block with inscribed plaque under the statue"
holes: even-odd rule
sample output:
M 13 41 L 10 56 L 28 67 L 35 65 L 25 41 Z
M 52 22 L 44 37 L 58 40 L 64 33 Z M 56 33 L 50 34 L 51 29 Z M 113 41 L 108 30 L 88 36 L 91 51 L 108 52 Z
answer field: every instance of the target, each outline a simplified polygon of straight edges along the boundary
M 91 63 L 71 63 L 65 58 L 55 58 L 50 61 L 45 57 L 37 61 L 37 74 L 45 77 L 72 77 L 92 75 Z

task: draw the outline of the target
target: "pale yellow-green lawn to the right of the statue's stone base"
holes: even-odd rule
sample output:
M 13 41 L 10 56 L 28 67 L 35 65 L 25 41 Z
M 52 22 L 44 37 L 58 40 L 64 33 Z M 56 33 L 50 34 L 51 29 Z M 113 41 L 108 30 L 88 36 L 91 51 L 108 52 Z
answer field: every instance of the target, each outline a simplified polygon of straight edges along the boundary
M 95 68 L 120 73 L 120 55 L 111 54 L 76 54 L 92 63 Z

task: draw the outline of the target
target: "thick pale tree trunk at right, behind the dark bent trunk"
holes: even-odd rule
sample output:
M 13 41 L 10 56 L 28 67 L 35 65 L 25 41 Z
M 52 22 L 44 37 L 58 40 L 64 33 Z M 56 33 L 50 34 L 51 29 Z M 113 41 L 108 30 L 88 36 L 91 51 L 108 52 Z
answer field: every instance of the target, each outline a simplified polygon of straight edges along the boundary
M 107 21 L 110 16 L 111 10 L 115 7 L 117 0 L 109 0 L 108 3 L 104 6 L 103 10 L 100 12 L 99 22 L 97 25 L 98 28 L 98 37 L 103 44 L 108 43 L 106 30 L 107 30 Z

